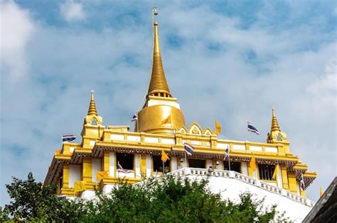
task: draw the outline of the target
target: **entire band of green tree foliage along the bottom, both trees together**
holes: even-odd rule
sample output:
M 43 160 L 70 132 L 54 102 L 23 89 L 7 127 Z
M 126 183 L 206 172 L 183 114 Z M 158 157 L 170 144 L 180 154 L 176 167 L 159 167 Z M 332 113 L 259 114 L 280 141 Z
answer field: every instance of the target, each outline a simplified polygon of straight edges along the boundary
M 11 202 L 0 221 L 14 219 L 55 222 L 269 222 L 278 215 L 276 206 L 263 208 L 263 200 L 240 195 L 240 202 L 222 200 L 211 193 L 208 181 L 191 181 L 166 175 L 144 183 L 117 184 L 111 193 L 96 192 L 95 200 L 60 199 L 55 187 L 14 178 L 6 185 Z

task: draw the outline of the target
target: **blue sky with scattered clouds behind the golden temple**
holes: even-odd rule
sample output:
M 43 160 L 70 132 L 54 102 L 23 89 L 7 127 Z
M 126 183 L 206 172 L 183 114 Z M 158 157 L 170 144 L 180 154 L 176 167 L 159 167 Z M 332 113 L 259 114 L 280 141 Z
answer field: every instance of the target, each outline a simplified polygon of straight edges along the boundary
M 132 125 L 151 71 L 152 1 L 0 1 L 0 205 L 11 176 L 46 176 L 80 135 L 90 91 L 104 125 Z M 279 125 L 319 198 L 336 176 L 336 1 L 156 1 L 166 78 L 186 117 L 225 139 Z M 246 122 L 262 135 L 247 135 Z

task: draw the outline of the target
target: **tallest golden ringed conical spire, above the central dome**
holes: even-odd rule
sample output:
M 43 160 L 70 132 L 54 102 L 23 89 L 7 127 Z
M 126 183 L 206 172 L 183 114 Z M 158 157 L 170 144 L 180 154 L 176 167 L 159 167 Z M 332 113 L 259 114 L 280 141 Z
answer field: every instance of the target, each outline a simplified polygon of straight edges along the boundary
M 172 97 L 169 85 L 166 82 L 163 63 L 161 62 L 158 23 L 154 23 L 154 61 L 152 64 L 151 80 L 147 96 Z

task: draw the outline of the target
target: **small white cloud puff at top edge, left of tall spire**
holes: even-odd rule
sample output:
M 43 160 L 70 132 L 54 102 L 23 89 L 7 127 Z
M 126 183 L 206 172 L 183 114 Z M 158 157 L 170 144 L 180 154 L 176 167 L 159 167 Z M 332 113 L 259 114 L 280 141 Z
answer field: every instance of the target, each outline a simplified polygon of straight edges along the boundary
M 73 0 L 67 0 L 60 4 L 60 11 L 65 21 L 81 21 L 85 19 L 85 11 L 82 3 L 75 3 Z

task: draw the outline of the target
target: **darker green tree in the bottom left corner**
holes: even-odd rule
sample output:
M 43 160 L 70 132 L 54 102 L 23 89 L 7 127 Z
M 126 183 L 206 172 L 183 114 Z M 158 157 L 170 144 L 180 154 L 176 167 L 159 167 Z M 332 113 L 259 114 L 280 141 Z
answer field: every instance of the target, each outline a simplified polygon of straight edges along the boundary
M 43 186 L 29 173 L 26 181 L 13 177 L 13 183 L 6 185 L 11 201 L 0 208 L 0 221 L 67 221 L 77 219 L 85 210 L 83 202 L 61 199 L 56 195 L 55 185 Z

